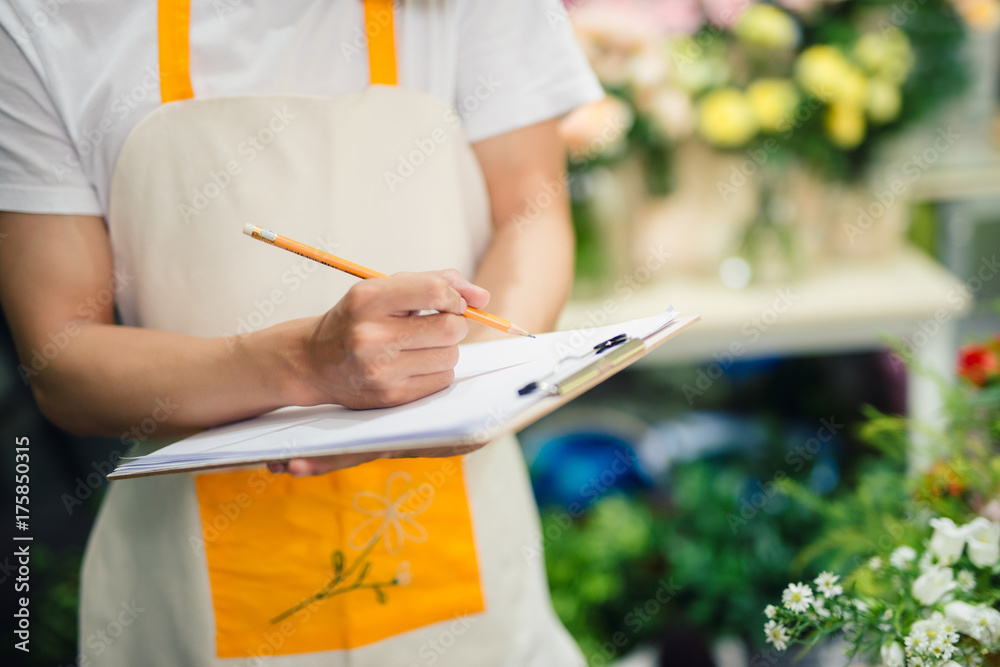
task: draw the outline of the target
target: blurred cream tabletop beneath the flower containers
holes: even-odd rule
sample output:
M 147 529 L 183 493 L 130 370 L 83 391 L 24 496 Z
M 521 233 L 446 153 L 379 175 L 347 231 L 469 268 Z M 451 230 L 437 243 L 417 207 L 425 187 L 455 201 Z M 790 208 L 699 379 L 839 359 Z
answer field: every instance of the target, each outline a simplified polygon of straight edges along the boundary
M 884 347 L 884 335 L 953 330 L 971 306 L 961 281 L 922 252 L 850 259 L 784 285 L 733 290 L 718 279 L 671 278 L 631 295 L 573 301 L 560 329 L 645 317 L 673 304 L 702 322 L 651 354 L 647 363 L 698 363 L 742 346 L 741 359 Z M 609 314 L 609 310 L 613 310 Z M 943 338 L 938 333 L 916 334 Z M 944 336 L 946 337 L 946 336 Z

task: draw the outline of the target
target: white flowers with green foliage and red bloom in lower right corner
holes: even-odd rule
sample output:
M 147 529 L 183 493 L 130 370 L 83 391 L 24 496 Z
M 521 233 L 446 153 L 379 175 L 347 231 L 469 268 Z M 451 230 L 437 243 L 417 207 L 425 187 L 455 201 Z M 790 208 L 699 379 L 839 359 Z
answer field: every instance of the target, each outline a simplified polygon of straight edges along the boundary
M 765 609 L 776 649 L 842 634 L 852 658 L 885 667 L 1000 665 L 998 352 L 1000 337 L 961 349 L 956 381 L 941 382 L 940 427 L 870 412 L 862 436 L 899 461 L 919 434 L 937 453 L 925 472 L 878 465 L 839 499 L 783 485 L 823 519 L 800 565 L 836 554 L 852 567 L 843 582 L 824 572 L 791 584 Z

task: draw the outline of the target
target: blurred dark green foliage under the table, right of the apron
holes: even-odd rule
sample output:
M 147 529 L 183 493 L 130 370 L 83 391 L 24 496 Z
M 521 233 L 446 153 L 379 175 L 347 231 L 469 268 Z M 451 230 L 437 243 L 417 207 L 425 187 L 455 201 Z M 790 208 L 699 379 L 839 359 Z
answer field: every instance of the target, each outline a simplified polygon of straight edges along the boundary
M 594 654 L 617 632 L 630 646 L 655 640 L 678 622 L 760 645 L 762 605 L 815 536 L 807 513 L 777 487 L 748 486 L 748 469 L 767 480 L 778 465 L 773 457 L 696 461 L 674 469 L 669 503 L 615 495 L 576 521 L 543 512 L 553 604 L 584 650 Z M 763 488 L 774 495 L 758 502 Z

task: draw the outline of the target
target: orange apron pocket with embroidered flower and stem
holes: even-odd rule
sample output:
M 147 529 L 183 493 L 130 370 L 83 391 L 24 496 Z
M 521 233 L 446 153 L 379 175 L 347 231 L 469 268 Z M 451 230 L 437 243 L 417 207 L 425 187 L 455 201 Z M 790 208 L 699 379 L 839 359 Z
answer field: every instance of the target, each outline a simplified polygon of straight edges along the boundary
M 220 658 L 351 649 L 484 608 L 459 457 L 195 486 Z

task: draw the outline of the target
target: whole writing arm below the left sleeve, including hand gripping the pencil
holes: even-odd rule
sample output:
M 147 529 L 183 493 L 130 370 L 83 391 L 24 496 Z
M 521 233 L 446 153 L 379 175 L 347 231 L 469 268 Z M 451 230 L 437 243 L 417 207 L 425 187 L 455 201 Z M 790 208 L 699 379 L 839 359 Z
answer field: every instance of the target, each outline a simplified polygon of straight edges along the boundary
M 401 274 L 357 283 L 325 315 L 233 342 L 117 326 L 111 285 L 100 218 L 0 213 L 0 305 L 40 408 L 66 430 L 123 439 L 150 416 L 160 437 L 286 405 L 426 396 L 453 378 L 468 331 L 457 313 L 488 299 L 454 272 Z M 410 316 L 426 308 L 444 312 Z M 379 365 L 395 341 L 402 349 Z M 33 357 L 46 361 L 37 372 Z

